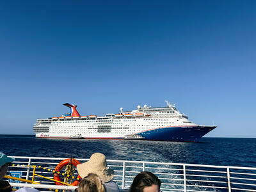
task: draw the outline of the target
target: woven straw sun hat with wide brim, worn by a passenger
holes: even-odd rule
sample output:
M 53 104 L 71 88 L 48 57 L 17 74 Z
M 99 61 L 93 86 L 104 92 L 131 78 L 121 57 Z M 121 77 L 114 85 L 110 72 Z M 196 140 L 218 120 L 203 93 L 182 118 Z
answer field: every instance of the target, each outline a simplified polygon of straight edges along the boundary
M 107 166 L 104 154 L 92 154 L 89 161 L 77 164 L 78 174 L 84 178 L 89 173 L 97 174 L 103 182 L 109 182 L 114 177 L 114 171 Z

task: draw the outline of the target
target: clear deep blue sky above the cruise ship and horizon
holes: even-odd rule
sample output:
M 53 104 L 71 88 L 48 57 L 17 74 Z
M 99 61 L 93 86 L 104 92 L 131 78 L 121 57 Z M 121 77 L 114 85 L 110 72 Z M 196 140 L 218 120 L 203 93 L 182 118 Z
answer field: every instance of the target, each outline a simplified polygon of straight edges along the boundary
M 176 104 L 256 138 L 256 1 L 0 1 L 0 130 Z

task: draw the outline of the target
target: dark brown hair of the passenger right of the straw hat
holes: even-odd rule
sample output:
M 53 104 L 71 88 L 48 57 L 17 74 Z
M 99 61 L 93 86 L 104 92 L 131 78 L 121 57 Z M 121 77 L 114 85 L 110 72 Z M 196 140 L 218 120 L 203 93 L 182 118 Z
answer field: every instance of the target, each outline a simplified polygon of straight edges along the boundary
M 130 192 L 143 192 L 145 187 L 152 185 L 161 186 L 161 180 L 151 172 L 141 172 L 133 179 Z

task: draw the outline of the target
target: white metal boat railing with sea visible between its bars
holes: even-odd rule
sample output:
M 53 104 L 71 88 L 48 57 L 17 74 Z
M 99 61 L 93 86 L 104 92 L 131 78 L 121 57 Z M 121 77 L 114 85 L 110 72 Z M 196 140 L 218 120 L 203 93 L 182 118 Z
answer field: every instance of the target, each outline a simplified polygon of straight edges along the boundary
M 33 177 L 33 166 L 35 173 L 53 179 L 53 173 L 47 171 L 54 170 L 60 161 L 66 158 L 51 157 L 15 157 L 7 175 L 19 172 L 22 179 L 31 180 Z M 70 158 L 70 157 L 69 157 Z M 81 163 L 89 159 L 75 158 Z M 256 168 L 243 166 L 216 166 L 205 164 L 186 163 L 160 163 L 150 161 L 122 161 L 108 160 L 108 166 L 115 170 L 113 180 L 122 191 L 129 189 L 134 177 L 143 171 L 152 172 L 161 180 L 161 191 L 256 191 Z M 65 170 L 62 170 L 63 172 Z M 77 177 L 77 170 L 74 173 Z M 33 187 L 40 191 L 49 189 L 69 189 L 74 190 L 76 186 L 57 186 L 51 180 L 45 180 L 36 176 L 35 182 L 38 184 L 26 184 L 10 181 L 13 187 Z

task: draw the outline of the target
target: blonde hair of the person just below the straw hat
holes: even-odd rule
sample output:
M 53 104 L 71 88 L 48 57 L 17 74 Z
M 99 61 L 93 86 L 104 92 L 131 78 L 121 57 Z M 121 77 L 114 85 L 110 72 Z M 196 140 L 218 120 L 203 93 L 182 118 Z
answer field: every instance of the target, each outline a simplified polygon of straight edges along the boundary
M 78 192 L 104 192 L 104 186 L 100 177 L 95 173 L 89 173 L 84 179 L 80 180 Z

